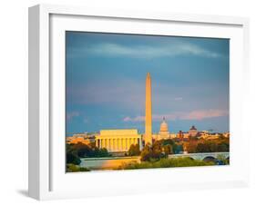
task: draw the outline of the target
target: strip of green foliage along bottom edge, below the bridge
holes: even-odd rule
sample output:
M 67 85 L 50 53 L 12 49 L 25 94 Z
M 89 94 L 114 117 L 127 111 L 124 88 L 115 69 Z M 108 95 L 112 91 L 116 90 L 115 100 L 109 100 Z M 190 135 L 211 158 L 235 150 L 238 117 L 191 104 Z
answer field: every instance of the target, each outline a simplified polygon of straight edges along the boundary
M 210 166 L 214 162 L 196 161 L 190 158 L 173 158 L 160 159 L 159 161 L 142 161 L 141 163 L 134 162 L 123 164 L 119 167 L 120 170 L 135 170 L 135 169 L 151 169 L 151 168 L 170 168 L 170 167 L 193 167 L 193 166 Z

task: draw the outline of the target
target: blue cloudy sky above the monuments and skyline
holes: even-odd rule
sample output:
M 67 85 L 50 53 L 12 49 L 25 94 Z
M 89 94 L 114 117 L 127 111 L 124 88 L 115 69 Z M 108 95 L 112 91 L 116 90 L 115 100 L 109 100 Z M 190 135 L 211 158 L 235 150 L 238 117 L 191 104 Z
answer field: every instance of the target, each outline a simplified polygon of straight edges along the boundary
M 66 32 L 66 130 L 144 133 L 151 75 L 152 126 L 229 131 L 229 39 Z

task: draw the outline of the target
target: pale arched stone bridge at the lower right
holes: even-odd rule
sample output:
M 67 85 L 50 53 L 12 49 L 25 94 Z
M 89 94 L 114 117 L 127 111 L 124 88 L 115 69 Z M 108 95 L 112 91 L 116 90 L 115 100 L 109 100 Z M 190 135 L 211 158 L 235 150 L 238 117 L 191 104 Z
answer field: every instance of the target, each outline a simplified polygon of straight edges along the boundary
M 210 161 L 218 158 L 230 159 L 230 152 L 203 152 L 203 153 L 183 153 L 183 154 L 169 154 L 169 159 L 189 157 L 193 160 Z

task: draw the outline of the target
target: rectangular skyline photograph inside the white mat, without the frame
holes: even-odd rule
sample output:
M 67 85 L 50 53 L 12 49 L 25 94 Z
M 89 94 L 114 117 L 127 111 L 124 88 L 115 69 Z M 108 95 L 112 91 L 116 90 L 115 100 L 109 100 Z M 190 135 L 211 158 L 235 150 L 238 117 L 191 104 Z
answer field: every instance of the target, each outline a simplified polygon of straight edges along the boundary
M 65 38 L 67 172 L 230 165 L 230 39 Z

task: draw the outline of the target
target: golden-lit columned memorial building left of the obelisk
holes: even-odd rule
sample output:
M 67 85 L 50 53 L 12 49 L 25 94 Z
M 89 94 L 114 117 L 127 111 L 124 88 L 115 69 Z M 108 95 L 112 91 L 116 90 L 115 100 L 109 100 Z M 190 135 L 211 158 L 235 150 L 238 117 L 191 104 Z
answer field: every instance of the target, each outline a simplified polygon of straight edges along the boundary
M 108 151 L 128 151 L 130 145 L 138 144 L 142 149 L 141 135 L 136 129 L 128 130 L 101 130 L 95 136 L 96 146 Z

